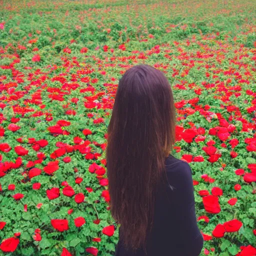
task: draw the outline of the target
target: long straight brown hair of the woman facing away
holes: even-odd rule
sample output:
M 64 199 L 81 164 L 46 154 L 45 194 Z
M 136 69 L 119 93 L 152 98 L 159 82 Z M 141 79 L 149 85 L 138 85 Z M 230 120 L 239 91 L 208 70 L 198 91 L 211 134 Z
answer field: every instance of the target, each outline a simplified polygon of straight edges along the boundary
M 145 248 L 174 127 L 173 96 L 164 74 L 148 65 L 129 68 L 118 84 L 106 149 L 110 209 L 126 247 Z

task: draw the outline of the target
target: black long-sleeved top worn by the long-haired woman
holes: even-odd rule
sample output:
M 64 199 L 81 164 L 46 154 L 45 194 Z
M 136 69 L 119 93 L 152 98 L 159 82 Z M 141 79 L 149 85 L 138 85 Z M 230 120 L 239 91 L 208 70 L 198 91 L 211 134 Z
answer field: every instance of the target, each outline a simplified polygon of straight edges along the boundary
M 203 238 L 197 227 L 194 210 L 192 173 L 189 165 L 173 156 L 165 160 L 168 184 L 158 189 L 154 220 L 146 252 L 125 249 L 121 227 L 116 256 L 198 256 Z M 171 186 L 171 187 L 170 187 Z

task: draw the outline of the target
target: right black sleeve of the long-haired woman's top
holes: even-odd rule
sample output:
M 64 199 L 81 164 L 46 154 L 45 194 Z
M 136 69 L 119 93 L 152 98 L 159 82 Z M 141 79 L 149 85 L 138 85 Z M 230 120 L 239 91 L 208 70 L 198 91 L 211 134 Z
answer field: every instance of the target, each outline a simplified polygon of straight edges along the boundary
M 166 166 L 167 180 L 171 188 L 168 189 L 168 197 L 171 203 L 175 241 L 179 247 L 180 256 L 198 256 L 202 249 L 203 238 L 197 227 L 194 191 L 190 166 L 183 161 L 177 161 Z

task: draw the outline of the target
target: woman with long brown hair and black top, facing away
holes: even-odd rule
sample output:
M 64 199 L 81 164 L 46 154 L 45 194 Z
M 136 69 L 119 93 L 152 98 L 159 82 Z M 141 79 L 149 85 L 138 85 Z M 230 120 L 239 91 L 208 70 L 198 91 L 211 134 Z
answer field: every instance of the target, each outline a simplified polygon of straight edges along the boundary
M 175 110 L 164 74 L 148 65 L 119 81 L 106 149 L 110 207 L 120 224 L 117 256 L 197 256 L 191 169 L 169 155 Z

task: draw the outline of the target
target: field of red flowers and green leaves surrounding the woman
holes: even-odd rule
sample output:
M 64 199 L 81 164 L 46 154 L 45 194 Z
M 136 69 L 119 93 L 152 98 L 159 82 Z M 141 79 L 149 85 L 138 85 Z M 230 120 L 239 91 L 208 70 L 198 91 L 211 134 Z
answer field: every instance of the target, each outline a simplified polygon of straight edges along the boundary
M 114 254 L 106 128 L 138 63 L 172 85 L 201 255 L 256 255 L 255 1 L 0 6 L 0 255 Z

